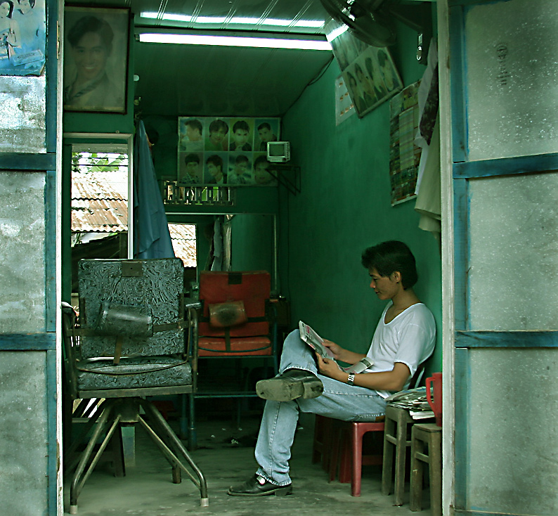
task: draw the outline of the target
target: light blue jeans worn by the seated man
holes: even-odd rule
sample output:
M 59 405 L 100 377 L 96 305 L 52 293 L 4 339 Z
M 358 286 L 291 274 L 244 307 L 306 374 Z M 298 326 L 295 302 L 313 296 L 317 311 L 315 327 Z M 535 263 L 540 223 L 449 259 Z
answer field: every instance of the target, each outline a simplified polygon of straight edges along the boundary
M 299 411 L 344 421 L 373 421 L 386 408 L 377 392 L 318 374 L 313 351 L 302 342 L 299 330 L 285 339 L 279 372 L 293 368 L 316 374 L 323 382 L 323 394 L 312 399 L 266 401 L 256 444 L 257 473 L 279 486 L 291 483 L 289 459 Z

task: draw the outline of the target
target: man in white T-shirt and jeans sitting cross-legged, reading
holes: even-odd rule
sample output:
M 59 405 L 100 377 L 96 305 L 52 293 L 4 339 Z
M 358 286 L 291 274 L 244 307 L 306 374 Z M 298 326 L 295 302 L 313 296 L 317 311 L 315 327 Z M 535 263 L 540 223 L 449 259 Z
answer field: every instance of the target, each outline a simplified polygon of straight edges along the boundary
M 324 341 L 336 360 L 356 363 L 368 356 L 370 368 L 349 374 L 337 363 L 313 353 L 295 330 L 285 339 L 280 375 L 261 380 L 258 396 L 266 399 L 256 445 L 256 474 L 232 496 L 292 493 L 289 458 L 299 411 L 345 421 L 373 421 L 385 413 L 385 398 L 409 385 L 417 367 L 434 350 L 436 325 L 432 312 L 413 291 L 417 282 L 415 257 L 395 240 L 368 247 L 362 264 L 370 273 L 370 288 L 389 300 L 367 354 Z

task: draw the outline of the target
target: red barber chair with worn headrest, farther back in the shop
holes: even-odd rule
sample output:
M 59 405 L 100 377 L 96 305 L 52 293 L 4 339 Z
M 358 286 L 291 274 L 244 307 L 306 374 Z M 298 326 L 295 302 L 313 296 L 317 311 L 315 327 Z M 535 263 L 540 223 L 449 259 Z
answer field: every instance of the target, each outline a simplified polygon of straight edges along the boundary
M 270 301 L 271 276 L 266 271 L 200 273 L 200 308 L 190 309 L 196 346 L 193 368 L 200 361 L 211 366 L 221 360 L 215 375 L 200 375 L 197 391 L 190 394 L 190 449 L 195 449 L 195 399 L 238 399 L 256 397 L 246 367 L 251 359 L 264 361 L 262 378 L 277 374 L 277 337 L 273 305 Z M 195 352 L 197 351 L 197 353 Z M 202 383 L 203 382 L 203 383 Z M 254 384 L 255 385 L 255 384 Z

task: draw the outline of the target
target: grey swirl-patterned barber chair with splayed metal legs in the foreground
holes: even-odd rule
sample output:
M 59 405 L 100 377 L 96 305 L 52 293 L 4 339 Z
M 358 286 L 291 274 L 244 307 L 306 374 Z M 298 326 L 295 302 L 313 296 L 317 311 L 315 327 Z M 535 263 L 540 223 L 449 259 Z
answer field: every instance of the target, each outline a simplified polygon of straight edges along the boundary
M 85 259 L 79 262 L 78 279 L 79 319 L 72 307 L 63 307 L 66 385 L 72 399 L 82 400 L 80 406 L 98 401 L 67 452 L 71 463 L 72 453 L 91 434 L 72 475 L 70 514 L 77 514 L 79 493 L 108 443 L 120 441 L 121 425 L 134 423 L 161 449 L 173 482 L 181 482 L 185 472 L 200 491 L 201 505 L 209 505 L 204 475 L 146 399 L 195 391 L 184 332 L 181 260 Z

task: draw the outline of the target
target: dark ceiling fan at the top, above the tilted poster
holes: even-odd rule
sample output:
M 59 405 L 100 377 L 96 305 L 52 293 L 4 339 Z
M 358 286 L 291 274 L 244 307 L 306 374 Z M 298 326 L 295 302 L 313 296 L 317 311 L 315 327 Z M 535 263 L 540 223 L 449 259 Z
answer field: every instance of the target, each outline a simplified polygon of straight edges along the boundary
M 372 46 L 395 43 L 396 19 L 420 33 L 431 24 L 431 7 L 427 1 L 406 4 L 398 0 L 320 1 L 334 20 L 349 27 L 354 37 Z

